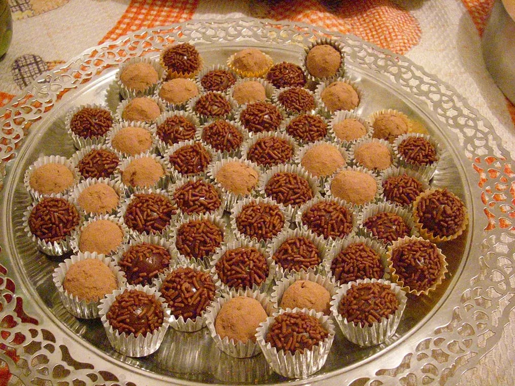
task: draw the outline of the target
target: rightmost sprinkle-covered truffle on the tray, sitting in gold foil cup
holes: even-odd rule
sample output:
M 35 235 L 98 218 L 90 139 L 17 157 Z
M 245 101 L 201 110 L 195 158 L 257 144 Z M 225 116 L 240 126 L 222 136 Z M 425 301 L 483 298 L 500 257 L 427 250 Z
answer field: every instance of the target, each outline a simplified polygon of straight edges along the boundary
M 452 236 L 465 221 L 465 204 L 447 188 L 424 196 L 415 208 L 415 217 L 437 236 Z

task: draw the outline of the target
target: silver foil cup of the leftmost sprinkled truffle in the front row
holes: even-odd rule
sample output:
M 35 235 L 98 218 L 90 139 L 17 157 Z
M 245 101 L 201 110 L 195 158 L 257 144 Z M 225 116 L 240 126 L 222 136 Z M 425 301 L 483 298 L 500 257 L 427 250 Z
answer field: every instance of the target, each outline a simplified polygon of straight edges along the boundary
M 118 330 L 115 330 L 111 326 L 111 323 L 106 317 L 109 308 L 114 303 L 117 295 L 132 289 L 143 291 L 147 295 L 155 296 L 159 301 L 163 311 L 163 324 L 159 329 L 153 332 L 148 332 L 146 335 L 140 334 L 138 336 L 134 336 L 132 332 L 130 335 L 127 335 L 125 332 L 120 334 Z M 100 301 L 100 305 L 98 306 L 98 315 L 104 329 L 106 330 L 106 335 L 111 346 L 118 353 L 128 357 L 144 357 L 156 352 L 163 341 L 170 320 L 170 311 L 166 307 L 166 303 L 164 303 L 164 299 L 161 297 L 161 294 L 153 288 L 142 286 L 127 286 L 113 291 Z

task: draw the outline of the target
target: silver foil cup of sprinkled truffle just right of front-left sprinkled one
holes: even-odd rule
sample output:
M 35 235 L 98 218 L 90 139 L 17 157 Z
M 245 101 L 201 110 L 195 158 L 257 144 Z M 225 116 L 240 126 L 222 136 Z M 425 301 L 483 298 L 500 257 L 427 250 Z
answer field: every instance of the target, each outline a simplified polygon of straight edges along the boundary
M 165 282 L 167 275 L 178 268 L 192 268 L 196 271 L 207 273 L 211 276 L 211 278 L 213 279 L 213 283 L 215 285 L 215 295 L 213 297 L 213 300 L 209 303 L 207 307 L 205 307 L 205 309 L 201 312 L 200 315 L 197 315 L 195 319 L 184 319 L 182 315 L 180 317 L 176 317 L 173 314 L 173 312 L 170 309 L 168 309 L 168 311 L 170 312 L 170 327 L 182 332 L 195 332 L 205 327 L 206 314 L 208 312 L 210 305 L 212 305 L 216 301 L 216 299 L 218 299 L 218 297 L 221 296 L 221 282 L 218 275 L 216 274 L 216 272 L 213 272 L 213 270 L 209 268 L 204 268 L 193 262 L 186 262 L 185 264 L 177 265 L 171 268 L 169 271 L 165 271 L 163 274 L 159 275 L 159 278 L 156 280 L 156 288 L 158 288 L 159 291 L 161 291 L 161 287 L 163 286 L 163 283 Z

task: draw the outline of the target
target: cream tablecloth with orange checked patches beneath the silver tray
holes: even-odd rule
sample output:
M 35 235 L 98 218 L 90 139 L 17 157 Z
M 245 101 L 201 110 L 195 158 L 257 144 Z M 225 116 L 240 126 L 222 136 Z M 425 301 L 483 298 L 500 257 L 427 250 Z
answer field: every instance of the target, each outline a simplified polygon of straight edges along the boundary
M 515 155 L 515 108 L 488 74 L 480 39 L 494 0 L 9 0 L 11 47 L 0 62 L 0 106 L 84 49 L 142 28 L 187 20 L 266 17 L 353 33 L 452 84 Z M 514 184 L 515 185 L 515 184 Z M 515 189 L 510 190 L 511 199 Z M 515 312 L 500 342 L 461 386 L 515 384 Z M 0 380 L 0 384 L 2 384 Z

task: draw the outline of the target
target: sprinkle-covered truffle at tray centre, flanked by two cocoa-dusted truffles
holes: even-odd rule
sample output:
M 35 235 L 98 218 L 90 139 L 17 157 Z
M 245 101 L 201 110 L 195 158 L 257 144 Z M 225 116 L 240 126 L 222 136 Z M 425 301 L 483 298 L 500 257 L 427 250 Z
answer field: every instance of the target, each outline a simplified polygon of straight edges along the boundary
M 265 195 L 283 205 L 302 205 L 314 197 L 307 180 L 297 173 L 278 172 L 268 180 Z

